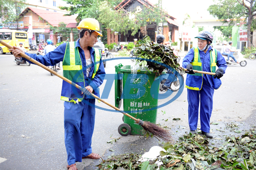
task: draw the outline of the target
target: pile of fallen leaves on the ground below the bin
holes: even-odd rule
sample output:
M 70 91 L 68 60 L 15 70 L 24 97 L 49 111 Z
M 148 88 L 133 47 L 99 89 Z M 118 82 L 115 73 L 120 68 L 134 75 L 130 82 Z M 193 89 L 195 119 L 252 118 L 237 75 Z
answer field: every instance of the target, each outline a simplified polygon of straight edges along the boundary
M 165 143 L 160 156 L 154 161 L 139 162 L 138 154 L 110 156 L 97 165 L 98 170 L 157 170 L 156 162 L 162 161 L 160 170 L 255 170 L 256 132 L 250 129 L 240 137 L 227 136 L 221 147 L 212 147 L 199 134 L 180 137 L 176 144 Z

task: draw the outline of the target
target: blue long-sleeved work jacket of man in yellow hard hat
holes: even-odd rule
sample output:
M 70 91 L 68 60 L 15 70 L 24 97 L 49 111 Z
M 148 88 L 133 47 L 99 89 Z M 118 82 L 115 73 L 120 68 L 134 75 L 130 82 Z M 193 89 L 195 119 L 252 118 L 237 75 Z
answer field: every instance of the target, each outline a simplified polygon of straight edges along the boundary
M 105 77 L 105 69 L 104 69 L 102 59 L 101 59 L 101 62 L 99 64 L 99 70 L 97 71 L 97 74 L 91 80 L 91 77 L 92 77 L 93 71 L 94 71 L 94 54 L 95 54 L 95 51 L 93 50 L 93 48 L 88 47 L 89 50 L 90 50 L 90 55 L 91 55 L 91 59 L 92 59 L 93 64 L 91 66 L 89 76 L 87 77 L 86 76 L 86 59 L 85 59 L 85 55 L 84 55 L 84 50 L 81 48 L 79 40 L 76 41 L 75 48 L 78 47 L 78 49 L 79 49 L 79 55 L 80 55 L 80 58 L 81 58 L 81 63 L 82 63 L 82 68 L 83 68 L 83 73 L 84 73 L 84 78 L 85 78 L 84 87 L 90 85 L 93 88 L 93 94 L 95 94 L 96 96 L 99 97 L 98 87 L 100 85 L 102 85 L 103 79 Z M 49 52 L 48 54 L 46 54 L 44 56 L 36 55 L 36 54 L 29 54 L 29 53 L 26 53 L 26 54 L 29 57 L 37 60 L 38 62 L 41 62 L 45 66 L 52 66 L 52 65 L 55 65 L 55 64 L 63 61 L 65 50 L 66 50 L 66 45 L 67 45 L 67 43 L 61 44 L 54 51 L 51 51 L 51 52 Z M 23 59 L 25 59 L 25 58 L 23 58 Z M 28 61 L 27 59 L 25 59 L 25 60 Z M 28 62 L 34 64 L 33 62 L 30 62 L 30 61 L 28 61 Z M 63 80 L 61 94 L 66 93 L 66 92 L 64 92 L 64 89 L 66 89 L 68 86 L 70 86 L 70 84 Z M 75 89 L 75 88 L 73 88 L 73 89 Z M 81 94 L 81 91 L 79 89 L 77 89 L 77 91 L 78 91 L 79 94 Z M 73 92 L 72 92 L 71 95 L 73 95 Z M 83 95 L 81 95 L 81 96 L 83 96 Z M 85 96 L 84 98 L 87 99 L 87 98 L 92 98 L 92 97 L 91 96 Z

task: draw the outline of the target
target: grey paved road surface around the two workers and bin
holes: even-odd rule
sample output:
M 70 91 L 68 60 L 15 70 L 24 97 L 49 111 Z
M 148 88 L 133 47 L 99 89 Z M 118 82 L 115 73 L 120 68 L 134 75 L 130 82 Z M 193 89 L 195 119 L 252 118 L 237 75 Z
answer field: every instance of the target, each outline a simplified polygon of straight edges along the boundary
M 63 101 L 60 100 L 62 80 L 36 65 L 16 65 L 11 54 L 0 55 L 0 169 L 1 170 L 64 170 L 67 154 L 64 146 Z M 112 60 L 107 63 L 106 73 L 113 74 L 114 66 L 128 60 Z M 256 110 L 256 61 L 247 65 L 230 65 L 223 84 L 215 91 L 211 122 L 244 121 Z M 59 71 L 62 74 L 62 71 Z M 186 78 L 186 76 L 185 76 Z M 101 91 L 106 85 L 104 81 Z M 108 86 L 111 84 L 108 84 Z M 159 105 L 167 99 L 159 100 Z M 157 122 L 171 127 L 181 135 L 189 130 L 187 123 L 186 89 L 171 104 L 158 109 Z M 108 99 L 114 104 L 114 85 Z M 97 104 L 109 108 L 104 103 Z M 162 114 L 161 111 L 166 111 Z M 180 118 L 180 121 L 172 121 Z M 164 120 L 169 119 L 167 122 Z M 250 120 L 252 123 L 255 120 Z M 122 124 L 122 114 L 96 109 L 93 134 L 93 152 L 106 159 L 111 153 L 144 152 L 158 145 L 155 138 L 143 136 L 122 137 L 117 127 Z M 199 126 L 198 126 L 199 127 Z M 211 125 L 212 128 L 212 125 Z M 214 129 L 212 128 L 214 133 Z M 113 144 L 107 141 L 119 138 Z M 214 134 L 216 137 L 216 134 Z M 109 149 L 115 150 L 111 152 Z M 99 160 L 83 160 L 79 170 L 96 169 Z

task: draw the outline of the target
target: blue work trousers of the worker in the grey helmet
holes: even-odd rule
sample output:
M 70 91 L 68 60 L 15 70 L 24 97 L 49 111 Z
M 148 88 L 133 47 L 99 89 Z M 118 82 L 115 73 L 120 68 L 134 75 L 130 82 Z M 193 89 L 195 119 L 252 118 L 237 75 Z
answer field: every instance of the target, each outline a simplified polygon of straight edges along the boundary
M 203 78 L 203 86 L 200 91 L 188 89 L 189 103 L 189 128 L 196 130 L 198 125 L 198 110 L 200 102 L 201 130 L 210 132 L 210 118 L 212 115 L 214 88 L 209 84 L 206 75 Z

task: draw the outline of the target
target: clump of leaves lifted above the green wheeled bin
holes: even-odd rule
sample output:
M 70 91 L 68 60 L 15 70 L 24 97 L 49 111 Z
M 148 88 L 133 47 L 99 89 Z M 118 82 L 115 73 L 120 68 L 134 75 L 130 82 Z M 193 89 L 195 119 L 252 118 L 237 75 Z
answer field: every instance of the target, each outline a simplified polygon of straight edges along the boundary
M 134 54 L 137 56 L 136 62 L 139 63 L 139 65 L 142 67 L 148 65 L 149 69 L 153 69 L 154 72 L 158 72 L 159 74 L 165 69 L 163 65 L 158 64 L 159 62 L 177 71 L 180 67 L 177 56 L 173 54 L 173 49 L 166 45 L 154 44 L 148 35 L 145 36 L 143 40 L 139 40 L 136 43 Z M 148 59 L 148 61 L 143 59 Z M 156 62 L 151 62 L 153 60 Z

